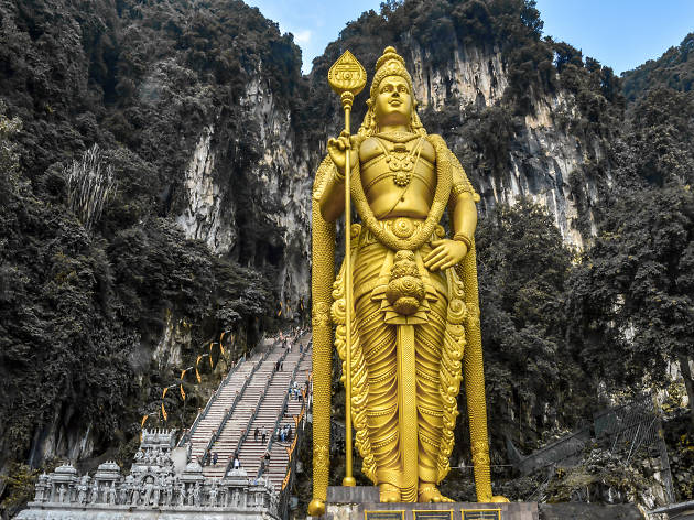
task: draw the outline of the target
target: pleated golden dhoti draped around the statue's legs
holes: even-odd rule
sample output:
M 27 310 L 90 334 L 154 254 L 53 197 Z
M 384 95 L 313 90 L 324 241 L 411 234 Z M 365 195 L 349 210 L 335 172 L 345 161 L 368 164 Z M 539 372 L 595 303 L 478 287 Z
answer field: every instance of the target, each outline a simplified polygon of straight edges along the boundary
M 424 267 L 423 258 L 432 250 L 425 242 L 414 251 L 424 297 L 415 313 L 401 315 L 386 297 L 394 251 L 372 239 L 368 230 L 361 230 L 355 242 L 353 420 L 357 447 L 365 459 L 362 470 L 375 484 L 392 484 L 400 488 L 402 501 L 415 501 L 420 481 L 438 483 L 448 472 L 457 405 L 455 397 L 446 397 L 451 390 L 458 392 L 465 336 L 463 327 L 451 322 L 449 292 L 453 284 L 462 296 L 462 284 L 453 272 L 430 272 Z M 343 281 L 339 275 L 337 285 Z M 343 291 L 335 293 L 338 299 Z M 344 359 L 339 327 L 336 343 Z M 455 388 L 449 388 L 452 382 Z

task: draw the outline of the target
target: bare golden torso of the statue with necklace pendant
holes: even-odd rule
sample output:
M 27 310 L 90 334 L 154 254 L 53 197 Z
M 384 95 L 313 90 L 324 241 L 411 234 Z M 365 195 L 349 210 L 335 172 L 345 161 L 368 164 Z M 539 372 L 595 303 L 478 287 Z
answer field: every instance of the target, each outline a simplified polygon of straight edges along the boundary
M 436 174 L 434 147 L 420 136 L 366 139 L 359 148 L 361 185 L 376 218 L 426 218 Z

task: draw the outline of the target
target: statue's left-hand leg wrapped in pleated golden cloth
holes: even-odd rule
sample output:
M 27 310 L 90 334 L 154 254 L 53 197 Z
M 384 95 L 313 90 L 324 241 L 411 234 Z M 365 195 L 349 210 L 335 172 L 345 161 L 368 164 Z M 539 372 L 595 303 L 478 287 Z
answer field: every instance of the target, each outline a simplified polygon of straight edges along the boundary
M 380 245 L 359 251 L 355 289 L 378 277 L 384 256 L 386 250 Z M 400 501 L 397 331 L 383 323 L 380 301 L 373 302 L 370 292 L 357 297 L 356 315 L 368 371 L 367 422 L 376 462 L 376 484 L 381 488 L 381 501 Z

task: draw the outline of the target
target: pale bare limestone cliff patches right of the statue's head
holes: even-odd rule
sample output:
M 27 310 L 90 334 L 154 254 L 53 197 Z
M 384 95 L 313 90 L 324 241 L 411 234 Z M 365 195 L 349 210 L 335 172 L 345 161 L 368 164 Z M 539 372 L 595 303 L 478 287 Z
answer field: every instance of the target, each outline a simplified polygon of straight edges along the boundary
M 509 80 L 498 48 L 467 47 L 452 42 L 451 59 L 444 66 L 434 66 L 431 50 L 410 43 L 408 62 L 420 110 L 464 111 L 469 106 L 484 110 L 502 101 Z M 539 96 L 533 109 L 534 113 L 523 118 L 522 127 L 509 143 L 505 174 L 480 175 L 476 171 L 468 174 L 482 198 L 482 212 L 499 203 L 512 205 L 520 197 L 532 198 L 547 208 L 567 243 L 582 247 L 586 237 L 577 228 L 578 219 L 587 219 L 583 229 L 592 232 L 595 232 L 595 221 L 589 212 L 579 215 L 568 181 L 589 153 L 599 159 L 603 152 L 598 144 L 584 143 L 559 128 L 557 117 L 579 116 L 571 94 L 559 90 Z M 454 150 L 465 147 L 457 138 L 448 138 L 447 143 Z M 583 188 L 590 202 L 597 201 L 597 187 L 592 180 Z

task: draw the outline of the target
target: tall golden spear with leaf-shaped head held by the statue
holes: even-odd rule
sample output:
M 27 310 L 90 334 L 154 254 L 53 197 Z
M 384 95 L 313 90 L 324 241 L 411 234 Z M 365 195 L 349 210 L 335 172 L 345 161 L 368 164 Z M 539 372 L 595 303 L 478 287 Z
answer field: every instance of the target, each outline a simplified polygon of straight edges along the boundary
M 345 53 L 328 71 L 328 83 L 339 94 L 345 109 L 345 131 L 349 136 L 349 113 L 355 96 L 366 86 L 366 71 L 349 52 Z M 355 486 L 351 475 L 351 198 L 350 149 L 345 149 L 345 478 L 343 486 Z

